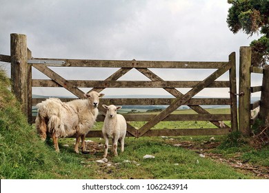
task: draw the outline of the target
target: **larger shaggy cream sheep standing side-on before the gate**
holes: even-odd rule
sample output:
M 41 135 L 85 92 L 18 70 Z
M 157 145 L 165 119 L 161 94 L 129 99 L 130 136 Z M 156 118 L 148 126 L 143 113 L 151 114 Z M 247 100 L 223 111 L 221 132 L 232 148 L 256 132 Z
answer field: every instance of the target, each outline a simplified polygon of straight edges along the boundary
M 37 132 L 43 141 L 46 140 L 47 134 L 52 137 L 56 152 L 59 152 L 58 139 L 66 136 L 76 137 L 74 151 L 77 153 L 81 139 L 82 152 L 86 152 L 86 134 L 97 119 L 99 97 L 104 94 L 93 91 L 84 96 L 86 99 L 76 99 L 67 103 L 50 98 L 37 104 Z

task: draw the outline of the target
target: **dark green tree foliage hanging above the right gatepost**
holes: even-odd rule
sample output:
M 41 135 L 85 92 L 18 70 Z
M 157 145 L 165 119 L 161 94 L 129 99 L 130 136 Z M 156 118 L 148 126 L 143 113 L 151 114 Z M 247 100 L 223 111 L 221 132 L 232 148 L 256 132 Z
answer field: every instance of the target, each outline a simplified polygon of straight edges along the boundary
M 228 0 L 232 7 L 228 10 L 227 23 L 233 33 L 243 30 L 252 36 L 263 34 L 252 41 L 252 65 L 263 66 L 269 59 L 269 1 L 268 0 Z

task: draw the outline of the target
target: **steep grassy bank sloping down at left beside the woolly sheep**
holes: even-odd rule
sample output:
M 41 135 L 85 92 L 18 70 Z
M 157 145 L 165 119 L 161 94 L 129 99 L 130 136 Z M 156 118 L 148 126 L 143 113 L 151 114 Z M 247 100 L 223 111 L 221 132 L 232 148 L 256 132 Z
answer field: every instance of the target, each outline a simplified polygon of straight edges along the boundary
M 88 178 L 94 170 L 84 170 L 79 157 L 56 154 L 39 140 L 0 70 L 0 179 L 76 179 L 78 174 Z

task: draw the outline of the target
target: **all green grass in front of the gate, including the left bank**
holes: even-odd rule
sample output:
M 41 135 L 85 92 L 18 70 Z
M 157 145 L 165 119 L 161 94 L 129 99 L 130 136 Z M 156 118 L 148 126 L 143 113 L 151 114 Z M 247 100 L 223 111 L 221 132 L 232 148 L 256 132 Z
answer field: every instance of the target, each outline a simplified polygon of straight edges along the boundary
M 54 152 L 51 141 L 43 143 L 26 116 L 21 105 L 10 92 L 10 82 L 0 70 L 0 179 L 256 179 L 257 176 L 217 163 L 186 148 L 172 145 L 170 139 L 141 137 L 126 139 L 125 152 L 118 157 L 109 156 L 110 166 L 99 164 L 103 149 L 95 154 L 75 154 L 73 140 L 61 139 L 60 153 Z M 162 125 L 161 127 L 164 127 Z M 170 125 L 171 126 L 171 125 Z M 97 125 L 97 129 L 100 125 Z M 203 141 L 209 136 L 175 137 L 181 141 Z M 225 136 L 216 136 L 224 141 Z M 103 139 L 91 139 L 103 144 Z M 69 147 L 65 147 L 68 143 Z M 243 159 L 268 164 L 268 148 L 255 150 L 247 144 L 227 144 L 215 149 L 226 156 L 237 151 Z M 155 159 L 143 159 L 145 154 Z M 127 160 L 127 161 L 126 161 Z M 264 161 L 261 161 L 264 160 Z

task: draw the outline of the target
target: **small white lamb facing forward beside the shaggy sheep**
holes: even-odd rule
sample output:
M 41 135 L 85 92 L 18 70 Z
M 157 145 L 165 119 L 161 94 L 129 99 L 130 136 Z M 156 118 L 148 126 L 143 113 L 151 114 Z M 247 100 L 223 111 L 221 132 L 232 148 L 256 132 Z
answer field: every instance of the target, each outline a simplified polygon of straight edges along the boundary
M 112 153 L 114 153 L 114 156 L 118 155 L 118 141 L 121 143 L 121 152 L 123 152 L 127 124 L 124 117 L 121 114 L 117 114 L 117 110 L 121 109 L 121 107 L 103 105 L 103 108 L 107 110 L 102 130 L 103 138 L 106 140 L 103 157 L 106 158 L 108 155 L 108 139 L 112 139 Z

